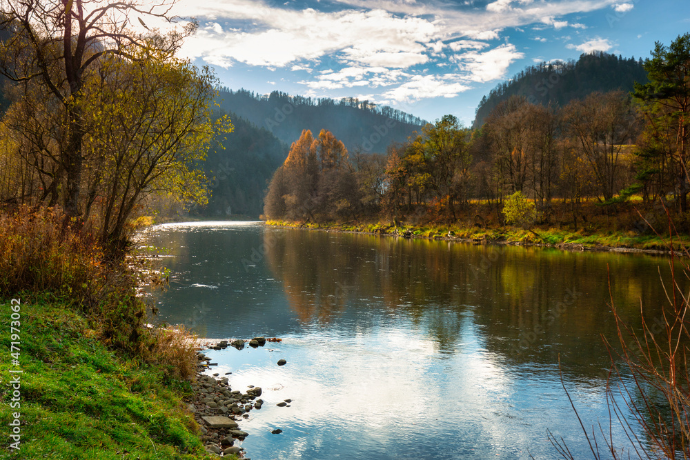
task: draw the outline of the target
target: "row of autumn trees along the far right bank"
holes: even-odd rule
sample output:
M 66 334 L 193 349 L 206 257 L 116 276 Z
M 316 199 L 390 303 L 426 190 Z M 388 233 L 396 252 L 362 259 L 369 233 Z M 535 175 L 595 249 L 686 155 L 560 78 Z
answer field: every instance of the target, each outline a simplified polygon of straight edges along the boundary
M 515 192 L 533 200 L 542 221 L 558 199 L 575 226 L 591 199 L 615 212 L 633 194 L 644 202 L 671 198 L 686 212 L 690 34 L 669 47 L 658 43 L 642 65 L 647 73 L 631 93 L 591 92 L 562 107 L 511 95 L 480 129 L 446 115 L 391 144 L 385 157 L 344 152 L 326 168 L 321 136 L 304 132 L 270 183 L 266 217 L 396 220 L 423 210 L 453 221 L 480 200 L 502 219 L 501 205 Z

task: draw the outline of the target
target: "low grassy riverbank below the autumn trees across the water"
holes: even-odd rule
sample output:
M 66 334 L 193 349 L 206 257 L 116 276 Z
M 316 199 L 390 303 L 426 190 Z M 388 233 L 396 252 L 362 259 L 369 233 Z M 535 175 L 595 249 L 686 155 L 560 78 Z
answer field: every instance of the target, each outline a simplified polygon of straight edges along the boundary
M 509 244 L 515 246 L 542 246 L 563 250 L 594 250 L 610 252 L 644 252 L 668 254 L 669 239 L 655 234 L 636 232 L 569 232 L 554 228 L 480 228 L 437 225 L 398 225 L 392 223 L 308 223 L 267 220 L 266 225 L 286 228 L 308 228 L 332 232 L 378 234 L 391 237 L 421 238 L 442 241 L 460 241 L 473 244 Z M 673 237 L 673 247 L 682 251 L 690 246 L 690 236 Z

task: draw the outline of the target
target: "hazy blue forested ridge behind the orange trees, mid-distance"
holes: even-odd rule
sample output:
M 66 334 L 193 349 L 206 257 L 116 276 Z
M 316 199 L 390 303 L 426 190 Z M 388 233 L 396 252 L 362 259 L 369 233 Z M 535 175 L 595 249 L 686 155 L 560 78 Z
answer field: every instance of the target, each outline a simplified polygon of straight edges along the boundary
M 325 129 L 333 132 L 350 151 L 359 147 L 364 152 L 385 152 L 391 142 L 405 141 L 426 123 L 400 110 L 355 98 L 335 101 L 278 91 L 264 95 L 223 88 L 219 99 L 221 108 L 268 129 L 288 144 L 299 139 L 304 129 L 315 136 Z

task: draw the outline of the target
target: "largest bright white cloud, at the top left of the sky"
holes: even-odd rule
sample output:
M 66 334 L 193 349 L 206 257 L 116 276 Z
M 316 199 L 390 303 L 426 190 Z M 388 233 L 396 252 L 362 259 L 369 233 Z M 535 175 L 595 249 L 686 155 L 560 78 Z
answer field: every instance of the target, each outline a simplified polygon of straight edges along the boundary
M 368 59 L 373 65 L 382 59 L 394 66 L 409 66 L 426 61 L 424 43 L 437 41 L 434 38 L 439 34 L 431 20 L 396 17 L 384 10 L 287 10 L 249 0 L 199 3 L 205 3 L 199 8 L 206 14 L 257 24 L 244 32 L 204 27 L 186 42 L 186 57 L 201 57 L 225 67 L 233 61 L 285 67 L 337 52 L 349 59 Z M 385 53 L 404 54 L 393 57 Z

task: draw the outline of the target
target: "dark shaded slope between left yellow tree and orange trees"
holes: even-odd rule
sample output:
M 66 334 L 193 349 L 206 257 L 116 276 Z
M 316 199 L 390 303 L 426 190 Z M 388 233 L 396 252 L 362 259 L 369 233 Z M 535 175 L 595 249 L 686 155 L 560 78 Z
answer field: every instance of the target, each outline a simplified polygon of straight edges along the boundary
M 258 218 L 264 208 L 267 181 L 287 158 L 288 145 L 266 128 L 234 113 L 228 116 L 235 130 L 226 134 L 226 139 L 218 139 L 204 163 L 204 171 L 212 182 L 208 206 L 201 214 Z

